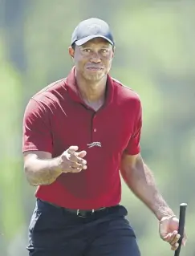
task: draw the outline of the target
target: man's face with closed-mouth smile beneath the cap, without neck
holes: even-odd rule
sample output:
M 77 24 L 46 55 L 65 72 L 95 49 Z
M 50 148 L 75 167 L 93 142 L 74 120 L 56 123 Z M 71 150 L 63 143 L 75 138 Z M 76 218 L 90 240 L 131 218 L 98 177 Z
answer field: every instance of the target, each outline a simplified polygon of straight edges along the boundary
M 107 40 L 96 38 L 80 47 L 75 45 L 75 51 L 70 47 L 69 54 L 74 58 L 76 71 L 84 79 L 99 81 L 110 71 L 114 51 Z

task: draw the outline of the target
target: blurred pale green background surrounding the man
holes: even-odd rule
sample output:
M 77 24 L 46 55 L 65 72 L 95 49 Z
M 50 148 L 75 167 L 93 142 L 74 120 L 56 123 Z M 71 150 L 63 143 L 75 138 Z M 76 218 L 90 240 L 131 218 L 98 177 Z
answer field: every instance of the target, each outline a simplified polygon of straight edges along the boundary
M 22 170 L 22 116 L 30 96 L 67 76 L 71 32 L 82 19 L 105 19 L 116 38 L 111 75 L 136 90 L 144 107 L 142 155 L 166 201 L 188 203 L 195 235 L 195 1 L 0 0 L 0 255 L 27 255 L 35 188 Z M 123 186 L 143 256 L 173 255 L 152 213 Z

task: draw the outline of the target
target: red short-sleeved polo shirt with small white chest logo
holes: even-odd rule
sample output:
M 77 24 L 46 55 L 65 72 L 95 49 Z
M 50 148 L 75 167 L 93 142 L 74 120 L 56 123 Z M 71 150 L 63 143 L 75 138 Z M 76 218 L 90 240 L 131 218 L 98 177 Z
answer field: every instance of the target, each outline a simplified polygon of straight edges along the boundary
M 23 119 L 22 152 L 39 150 L 59 156 L 71 145 L 86 150 L 87 170 L 63 173 L 35 196 L 71 209 L 117 205 L 121 198 L 120 159 L 140 152 L 139 96 L 108 75 L 105 104 L 95 112 L 83 103 L 75 67 L 65 79 L 34 95 Z

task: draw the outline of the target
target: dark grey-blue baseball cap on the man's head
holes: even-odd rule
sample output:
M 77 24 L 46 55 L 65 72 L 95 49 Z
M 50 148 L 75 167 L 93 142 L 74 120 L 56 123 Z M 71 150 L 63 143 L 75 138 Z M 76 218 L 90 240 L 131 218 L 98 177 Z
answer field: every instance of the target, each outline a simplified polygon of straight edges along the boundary
M 81 46 L 83 43 L 99 37 L 106 39 L 112 45 L 115 44 L 107 22 L 100 18 L 88 18 L 79 22 L 79 25 L 76 26 L 71 37 L 71 45 L 75 43 Z

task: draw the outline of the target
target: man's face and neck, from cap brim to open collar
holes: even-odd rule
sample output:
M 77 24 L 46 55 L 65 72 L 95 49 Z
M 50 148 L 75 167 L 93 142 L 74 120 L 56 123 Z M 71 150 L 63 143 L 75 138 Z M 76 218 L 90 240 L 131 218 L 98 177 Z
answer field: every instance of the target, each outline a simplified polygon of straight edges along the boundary
M 69 47 L 74 61 L 79 93 L 95 111 L 104 104 L 107 75 L 112 67 L 115 48 L 108 41 L 96 38 L 75 49 Z

